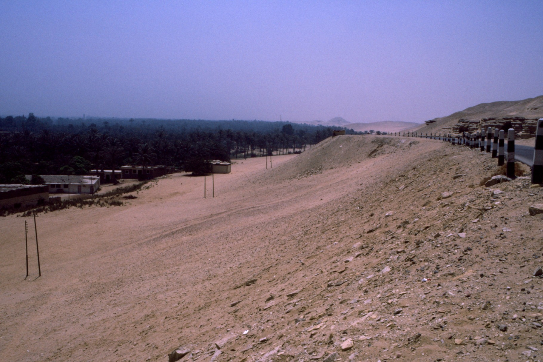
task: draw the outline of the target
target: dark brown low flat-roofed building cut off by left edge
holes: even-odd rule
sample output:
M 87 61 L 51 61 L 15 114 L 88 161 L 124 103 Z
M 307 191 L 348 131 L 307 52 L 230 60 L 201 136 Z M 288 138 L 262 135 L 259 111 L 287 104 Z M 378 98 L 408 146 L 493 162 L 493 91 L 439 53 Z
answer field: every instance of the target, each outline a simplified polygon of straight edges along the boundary
M 35 206 L 47 202 L 48 199 L 49 188 L 46 185 L 0 185 L 0 208 Z

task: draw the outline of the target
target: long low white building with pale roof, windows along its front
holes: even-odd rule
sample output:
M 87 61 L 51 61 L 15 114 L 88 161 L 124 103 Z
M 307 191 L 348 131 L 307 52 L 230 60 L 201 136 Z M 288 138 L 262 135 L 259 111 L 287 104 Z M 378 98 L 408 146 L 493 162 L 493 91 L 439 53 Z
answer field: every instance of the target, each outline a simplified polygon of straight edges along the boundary
M 25 175 L 28 180 L 31 176 Z M 100 188 L 98 176 L 68 176 L 56 174 L 41 174 L 49 188 L 49 194 L 94 194 Z

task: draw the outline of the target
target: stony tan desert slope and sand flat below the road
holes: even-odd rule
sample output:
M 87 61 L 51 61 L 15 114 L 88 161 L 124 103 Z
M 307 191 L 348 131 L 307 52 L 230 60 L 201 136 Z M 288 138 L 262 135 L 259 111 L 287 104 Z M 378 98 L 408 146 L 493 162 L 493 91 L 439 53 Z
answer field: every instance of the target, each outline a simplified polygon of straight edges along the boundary
M 338 136 L 121 207 L 0 219 L 2 361 L 540 360 L 543 189 L 488 154 Z M 172 355 L 172 358 L 174 356 Z

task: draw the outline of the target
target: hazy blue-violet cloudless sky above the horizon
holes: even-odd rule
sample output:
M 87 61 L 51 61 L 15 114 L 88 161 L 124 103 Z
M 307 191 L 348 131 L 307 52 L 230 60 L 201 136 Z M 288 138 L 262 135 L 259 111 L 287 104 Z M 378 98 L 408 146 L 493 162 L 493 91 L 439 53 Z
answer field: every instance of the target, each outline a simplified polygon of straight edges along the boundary
M 543 95 L 543 1 L 0 0 L 0 115 L 414 121 Z

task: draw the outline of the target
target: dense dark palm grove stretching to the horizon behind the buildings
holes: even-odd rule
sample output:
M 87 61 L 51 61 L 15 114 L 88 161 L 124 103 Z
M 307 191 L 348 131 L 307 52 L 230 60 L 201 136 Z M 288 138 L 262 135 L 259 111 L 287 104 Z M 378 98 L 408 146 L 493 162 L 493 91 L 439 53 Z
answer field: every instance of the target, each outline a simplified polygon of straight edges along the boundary
M 288 122 L 0 117 L 0 183 L 122 165 L 201 173 L 204 160 L 300 152 L 331 135 L 330 127 Z

